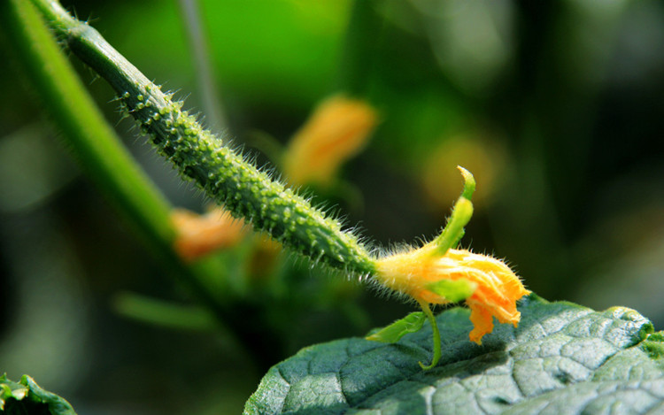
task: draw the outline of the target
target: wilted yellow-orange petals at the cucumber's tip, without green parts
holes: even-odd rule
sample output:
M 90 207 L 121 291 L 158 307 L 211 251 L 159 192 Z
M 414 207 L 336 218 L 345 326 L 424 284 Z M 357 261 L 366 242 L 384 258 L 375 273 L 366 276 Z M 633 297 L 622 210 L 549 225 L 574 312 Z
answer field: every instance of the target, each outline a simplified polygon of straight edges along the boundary
M 516 310 L 516 301 L 529 290 L 504 262 L 468 250 L 447 250 L 443 256 L 436 250 L 432 242 L 419 250 L 378 260 L 378 281 L 420 304 L 452 303 L 441 290 L 436 292 L 436 283 L 467 282 L 472 294 L 466 304 L 474 325 L 469 337 L 478 344 L 493 330 L 493 317 L 517 326 L 521 313 Z

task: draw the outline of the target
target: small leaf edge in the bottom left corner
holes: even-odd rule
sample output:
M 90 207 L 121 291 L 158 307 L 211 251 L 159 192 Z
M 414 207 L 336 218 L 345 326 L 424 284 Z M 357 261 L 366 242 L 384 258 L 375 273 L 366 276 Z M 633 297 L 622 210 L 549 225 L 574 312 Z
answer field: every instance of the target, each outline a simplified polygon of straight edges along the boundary
M 35 380 L 23 375 L 20 381 L 0 376 L 0 414 L 7 415 L 76 415 L 65 399 L 47 392 Z

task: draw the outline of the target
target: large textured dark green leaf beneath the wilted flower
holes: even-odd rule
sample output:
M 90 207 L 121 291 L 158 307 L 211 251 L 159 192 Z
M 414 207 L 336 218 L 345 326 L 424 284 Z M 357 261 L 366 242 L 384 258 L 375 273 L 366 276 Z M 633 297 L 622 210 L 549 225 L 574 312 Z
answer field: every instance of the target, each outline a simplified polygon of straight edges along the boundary
M 648 319 L 524 298 L 518 328 L 468 341 L 468 311 L 437 316 L 443 357 L 429 371 L 429 325 L 384 344 L 351 338 L 275 365 L 247 414 L 664 413 L 664 336 Z

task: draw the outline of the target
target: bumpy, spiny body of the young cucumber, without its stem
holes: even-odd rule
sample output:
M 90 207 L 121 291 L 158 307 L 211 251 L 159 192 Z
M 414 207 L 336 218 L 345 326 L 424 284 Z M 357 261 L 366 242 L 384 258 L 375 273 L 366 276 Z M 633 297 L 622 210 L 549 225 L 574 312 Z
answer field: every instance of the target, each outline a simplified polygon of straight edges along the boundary
M 136 95 L 126 91 L 120 99 L 184 177 L 235 217 L 291 249 L 345 271 L 374 273 L 374 260 L 336 220 L 325 218 L 290 188 L 245 162 L 156 85 L 142 89 L 144 93 Z

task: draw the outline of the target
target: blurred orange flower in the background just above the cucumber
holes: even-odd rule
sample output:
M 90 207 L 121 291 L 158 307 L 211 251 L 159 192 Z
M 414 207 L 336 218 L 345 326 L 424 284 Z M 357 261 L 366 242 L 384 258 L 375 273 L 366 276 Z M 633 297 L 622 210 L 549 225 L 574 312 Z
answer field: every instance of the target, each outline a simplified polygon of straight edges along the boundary
M 357 154 L 374 131 L 377 114 L 364 101 L 333 96 L 319 104 L 283 155 L 292 184 L 327 186 L 345 160 Z

